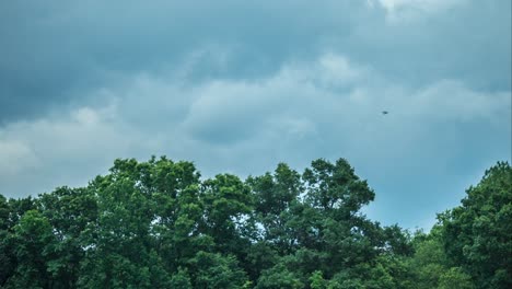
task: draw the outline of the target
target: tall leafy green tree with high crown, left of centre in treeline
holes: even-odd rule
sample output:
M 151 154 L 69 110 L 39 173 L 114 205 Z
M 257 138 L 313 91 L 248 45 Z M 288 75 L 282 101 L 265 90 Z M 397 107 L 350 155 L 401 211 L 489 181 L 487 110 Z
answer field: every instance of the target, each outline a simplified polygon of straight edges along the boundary
M 153 288 L 171 279 L 155 254 L 156 206 L 135 160 L 117 160 L 88 189 L 97 198 L 97 219 L 82 231 L 81 288 Z M 146 182 L 147 180 L 144 180 Z

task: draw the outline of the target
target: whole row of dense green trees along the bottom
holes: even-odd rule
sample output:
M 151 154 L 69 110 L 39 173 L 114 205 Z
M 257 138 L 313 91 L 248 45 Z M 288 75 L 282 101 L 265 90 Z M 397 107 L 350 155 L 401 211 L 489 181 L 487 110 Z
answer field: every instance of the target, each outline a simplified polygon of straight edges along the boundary
M 360 210 L 373 199 L 344 159 L 245 181 L 201 180 L 166 158 L 116 160 L 86 187 L 0 195 L 0 286 L 512 288 L 509 163 L 429 233 L 369 220 Z

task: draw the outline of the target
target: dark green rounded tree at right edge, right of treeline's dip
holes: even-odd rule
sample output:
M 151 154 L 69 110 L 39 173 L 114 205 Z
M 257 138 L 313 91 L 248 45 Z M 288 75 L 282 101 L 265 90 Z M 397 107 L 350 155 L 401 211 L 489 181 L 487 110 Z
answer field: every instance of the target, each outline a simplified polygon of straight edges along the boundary
M 498 162 L 459 207 L 440 215 L 446 255 L 478 288 L 512 287 L 512 169 Z

